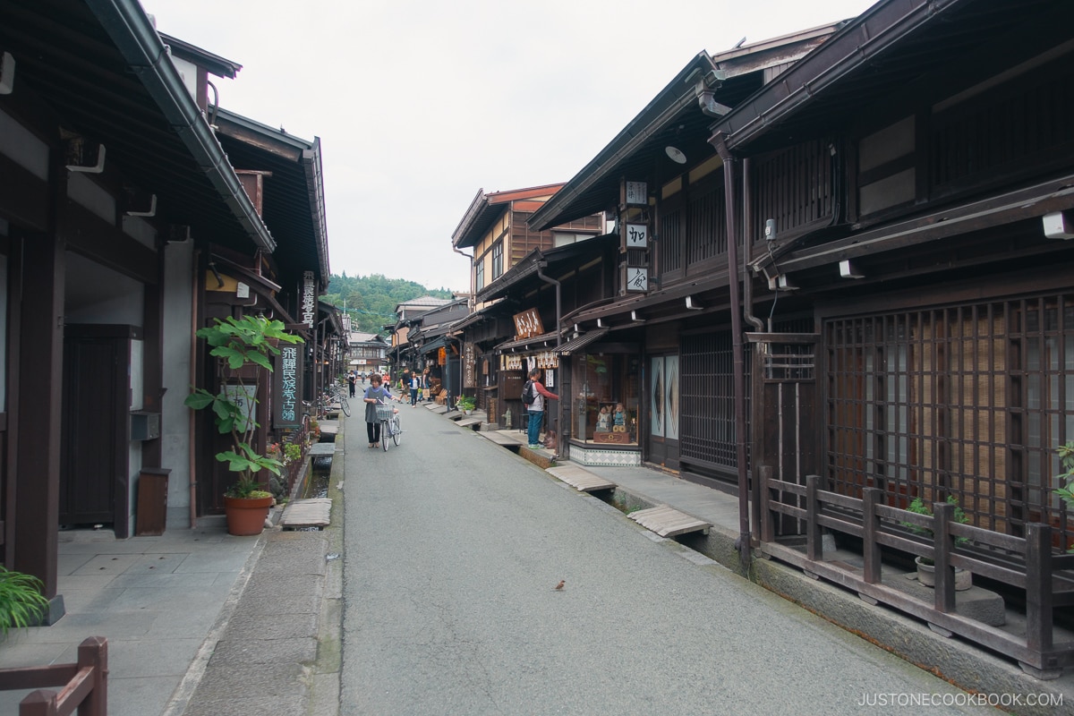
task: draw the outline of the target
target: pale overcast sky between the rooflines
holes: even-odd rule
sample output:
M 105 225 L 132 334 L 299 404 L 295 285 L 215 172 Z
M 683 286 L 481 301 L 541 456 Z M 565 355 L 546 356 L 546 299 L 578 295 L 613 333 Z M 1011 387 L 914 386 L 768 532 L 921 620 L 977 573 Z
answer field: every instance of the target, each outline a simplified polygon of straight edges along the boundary
M 871 0 L 142 0 L 243 65 L 220 105 L 319 136 L 333 274 L 469 290 L 451 234 L 479 189 L 569 180 L 702 49 Z M 270 227 L 272 230 L 272 227 Z

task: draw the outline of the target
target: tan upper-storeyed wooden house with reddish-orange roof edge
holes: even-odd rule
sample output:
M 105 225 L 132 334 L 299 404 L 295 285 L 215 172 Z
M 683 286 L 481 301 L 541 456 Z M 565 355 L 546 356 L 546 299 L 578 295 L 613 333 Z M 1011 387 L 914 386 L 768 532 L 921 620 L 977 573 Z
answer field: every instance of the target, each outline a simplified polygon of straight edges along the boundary
M 502 419 L 511 401 L 521 407 L 518 395 L 524 380 L 523 371 L 536 366 L 534 356 L 516 354 L 510 361 L 511 367 L 500 377 L 500 369 L 506 364 L 502 361 L 503 353 L 494 350 L 495 347 L 514 338 L 529 338 L 545 333 L 554 336 L 557 333 L 558 316 L 549 307 L 538 307 L 531 301 L 524 308 L 549 312 L 540 320 L 524 321 L 519 325 L 516 315 L 523 311 L 524 302 L 520 302 L 518 296 L 508 302 L 502 301 L 503 305 L 491 304 L 494 298 L 499 301 L 507 295 L 499 291 L 507 282 L 505 277 L 535 250 L 548 251 L 605 233 L 603 213 L 578 216 L 540 231 L 531 228 L 529 217 L 562 187 L 555 184 L 488 194 L 483 189 L 478 190 L 451 235 L 452 248 L 470 259 L 470 288 L 475 295 L 473 315 L 455 326 L 466 352 L 467 367 L 463 375 L 471 377 L 471 380 L 464 381 L 462 390 L 476 393 L 478 408 L 485 410 L 491 420 Z M 463 249 L 470 249 L 471 253 L 466 254 Z M 546 377 L 554 382 L 555 361 L 542 363 L 548 363 L 542 366 L 550 370 Z

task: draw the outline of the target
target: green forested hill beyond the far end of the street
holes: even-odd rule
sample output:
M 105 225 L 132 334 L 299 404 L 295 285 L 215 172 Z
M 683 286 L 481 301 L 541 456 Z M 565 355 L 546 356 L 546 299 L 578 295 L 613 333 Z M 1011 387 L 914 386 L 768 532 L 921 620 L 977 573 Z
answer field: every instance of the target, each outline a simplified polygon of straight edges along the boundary
M 395 306 L 421 296 L 450 298 L 447 289 L 426 289 L 420 283 L 401 278 L 332 275 L 329 291 L 323 296 L 328 303 L 350 315 L 351 330 L 358 333 L 379 333 L 395 322 Z

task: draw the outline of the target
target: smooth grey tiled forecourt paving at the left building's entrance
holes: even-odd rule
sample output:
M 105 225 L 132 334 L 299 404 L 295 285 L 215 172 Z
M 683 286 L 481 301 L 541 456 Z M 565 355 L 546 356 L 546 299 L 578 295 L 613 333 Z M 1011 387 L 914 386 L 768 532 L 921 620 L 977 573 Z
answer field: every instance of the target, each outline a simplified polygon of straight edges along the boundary
M 84 639 L 105 637 L 108 714 L 162 714 L 260 549 L 258 537 L 228 535 L 222 518 L 126 540 L 103 530 L 61 531 L 66 614 L 50 627 L 9 632 L 0 668 L 73 663 Z M 0 713 L 17 714 L 27 693 L 0 691 Z

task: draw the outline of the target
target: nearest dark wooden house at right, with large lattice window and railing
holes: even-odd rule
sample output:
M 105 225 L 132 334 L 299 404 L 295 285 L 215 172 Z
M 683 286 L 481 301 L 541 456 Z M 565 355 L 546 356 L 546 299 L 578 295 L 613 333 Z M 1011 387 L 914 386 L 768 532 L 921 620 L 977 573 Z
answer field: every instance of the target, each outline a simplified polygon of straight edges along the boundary
M 713 437 L 738 480 L 713 479 L 737 482 L 743 550 L 752 537 L 1043 678 L 1074 666 L 1056 628 L 1074 604 L 1071 506 L 1055 493 L 1074 439 L 1072 18 L 1061 0 L 884 0 L 713 117 L 726 229 L 711 234 L 732 240 L 710 301 L 731 330 L 708 349 L 668 341 L 681 433 L 687 356 L 711 381 L 693 396 L 722 398 Z M 693 194 L 670 200 L 694 185 L 649 204 L 656 276 L 688 245 L 672 217 Z M 734 429 L 748 417 L 749 441 Z M 915 497 L 934 515 L 908 517 Z M 826 558 L 822 530 L 861 562 Z M 915 555 L 935 561 L 934 589 L 908 591 Z M 956 569 L 1025 605 L 1025 625 L 963 611 Z

